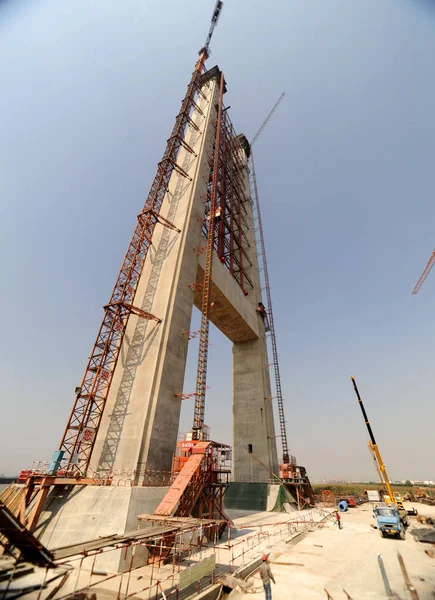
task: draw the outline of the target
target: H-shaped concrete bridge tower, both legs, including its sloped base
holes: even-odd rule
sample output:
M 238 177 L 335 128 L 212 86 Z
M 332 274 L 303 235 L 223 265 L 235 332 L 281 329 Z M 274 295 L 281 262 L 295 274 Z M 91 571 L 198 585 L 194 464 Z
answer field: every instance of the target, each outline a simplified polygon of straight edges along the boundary
M 110 475 L 112 485 L 50 492 L 37 529 L 50 548 L 131 531 L 136 516 L 154 512 L 166 493 L 165 487 L 147 486 L 153 485 L 153 474 L 171 469 L 181 408 L 177 394 L 184 391 L 186 333 L 193 304 L 202 307 L 205 262 L 195 249 L 204 247 L 205 202 L 216 174 L 213 153 L 220 78 L 217 67 L 201 76 L 201 93 L 173 165 L 135 294 L 138 314 L 152 313 L 161 321 L 129 316 L 93 446 L 89 475 Z M 265 327 L 257 312 L 261 284 L 249 190 L 249 144 L 244 136 L 236 137 L 230 123 L 225 135 L 232 154 L 227 170 L 223 160 L 218 161 L 220 193 L 234 188 L 238 198 L 232 213 L 237 223 L 229 230 L 230 238 L 237 235 L 238 258 L 237 268 L 231 269 L 220 260 L 222 256 L 213 255 L 209 318 L 234 348 L 234 476 L 263 485 L 277 472 L 278 461 Z M 222 211 L 224 205 L 219 206 Z M 116 553 L 111 556 L 104 568 L 122 568 L 121 562 L 115 564 Z

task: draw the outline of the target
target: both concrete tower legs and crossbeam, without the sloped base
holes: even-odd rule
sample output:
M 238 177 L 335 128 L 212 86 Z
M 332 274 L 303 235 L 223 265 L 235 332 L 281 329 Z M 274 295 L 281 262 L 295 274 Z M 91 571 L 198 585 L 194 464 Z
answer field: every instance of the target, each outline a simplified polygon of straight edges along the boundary
M 161 215 L 181 232 L 156 226 L 134 302 L 162 321 L 130 316 L 91 457 L 90 470 L 114 472 L 115 482 L 116 473 L 126 470 L 171 470 L 181 409 L 177 394 L 194 391 L 184 390 L 184 373 L 192 307 L 201 305 L 202 290 L 195 294 L 189 286 L 203 281 L 204 255 L 198 256 L 195 248 L 205 243 L 202 220 L 215 135 L 216 78 L 205 84 L 203 92 L 205 97 L 198 98 L 201 112 L 193 115 L 201 134 L 193 128 L 186 134 L 197 156 L 182 147 L 177 160 L 191 181 L 174 171 L 161 208 Z M 241 209 L 243 266 L 251 284 L 245 280 L 245 295 L 215 254 L 211 300 L 216 310 L 210 318 L 237 342 L 233 352 L 234 476 L 267 481 L 271 471 L 277 472 L 278 461 L 264 324 L 255 310 L 261 301 L 261 284 L 244 151 L 240 159 L 246 198 Z M 249 444 L 254 445 L 254 454 L 249 454 Z M 143 477 L 137 475 L 135 484 L 141 483 Z

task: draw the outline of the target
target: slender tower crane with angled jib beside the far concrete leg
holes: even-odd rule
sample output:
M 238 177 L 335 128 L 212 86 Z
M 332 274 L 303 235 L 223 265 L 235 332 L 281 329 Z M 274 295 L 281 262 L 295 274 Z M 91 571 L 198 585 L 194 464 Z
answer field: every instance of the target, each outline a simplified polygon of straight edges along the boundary
M 266 119 L 264 120 L 263 124 L 261 125 L 260 129 L 257 131 L 255 136 L 253 137 L 252 142 L 251 142 L 251 150 L 252 150 L 252 146 L 258 140 L 258 138 L 260 137 L 264 128 L 269 123 L 270 119 L 272 118 L 272 115 L 274 114 L 274 112 L 276 111 L 278 106 L 281 104 L 282 100 L 284 99 L 284 96 L 285 96 L 285 92 L 283 92 L 281 94 L 281 96 L 278 98 L 274 107 L 272 108 L 272 110 L 267 115 Z M 278 361 L 278 348 L 277 348 L 277 343 L 276 343 L 275 323 L 273 320 L 272 296 L 271 296 L 271 292 L 270 292 L 269 271 L 268 271 L 267 259 L 266 259 L 266 245 L 264 243 L 263 224 L 262 224 L 262 220 L 261 220 L 260 201 L 259 201 L 259 197 L 258 197 L 258 188 L 257 188 L 257 178 L 255 175 L 254 154 L 252 151 L 251 151 L 251 169 L 252 169 L 252 183 L 253 183 L 252 187 L 253 187 L 253 192 L 254 192 L 254 202 L 255 202 L 255 208 L 257 211 L 258 233 L 259 233 L 259 237 L 260 237 L 260 248 L 261 248 L 260 253 L 261 253 L 261 257 L 262 257 L 263 276 L 264 276 L 264 283 L 265 283 L 265 288 L 266 288 L 267 314 L 268 314 L 268 318 L 269 318 L 270 339 L 271 339 L 271 344 L 272 344 L 272 360 L 273 360 L 273 368 L 274 368 L 274 372 L 275 372 L 275 391 L 276 391 L 276 397 L 277 397 L 279 426 L 280 426 L 280 432 L 281 432 L 282 462 L 285 465 L 288 465 L 290 463 L 290 454 L 289 454 L 289 449 L 288 449 L 287 431 L 286 431 L 286 425 L 285 425 L 284 402 L 283 402 L 283 397 L 282 397 L 281 375 L 280 375 L 280 371 L 279 371 L 279 361 Z

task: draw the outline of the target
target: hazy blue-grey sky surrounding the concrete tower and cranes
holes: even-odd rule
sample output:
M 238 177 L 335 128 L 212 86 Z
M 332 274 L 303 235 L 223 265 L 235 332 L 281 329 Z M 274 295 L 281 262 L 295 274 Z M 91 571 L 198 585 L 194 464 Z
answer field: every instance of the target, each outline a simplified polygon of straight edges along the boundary
M 0 0 L 0 473 L 58 447 L 213 6 Z M 411 295 L 435 246 L 434 30 L 430 0 L 226 0 L 212 39 L 238 132 L 286 93 L 256 172 L 313 480 L 376 477 L 350 375 L 391 479 L 435 479 L 435 272 Z M 230 443 L 231 345 L 211 342 L 206 422 Z M 195 368 L 192 341 L 187 393 Z

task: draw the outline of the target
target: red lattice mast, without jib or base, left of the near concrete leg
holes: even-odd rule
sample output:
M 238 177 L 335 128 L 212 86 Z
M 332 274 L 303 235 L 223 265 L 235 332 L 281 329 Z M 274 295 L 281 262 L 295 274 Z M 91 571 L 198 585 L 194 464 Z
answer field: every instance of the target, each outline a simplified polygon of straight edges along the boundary
M 156 225 L 161 223 L 176 229 L 159 215 L 159 211 L 172 173 L 176 171 L 190 179 L 177 164 L 177 157 L 181 147 L 193 153 L 184 138 L 188 126 L 197 129 L 191 115 L 194 110 L 198 110 L 196 98 L 201 94 L 200 81 L 206 56 L 204 51 L 192 74 L 171 137 L 167 141 L 163 158 L 158 163 L 143 210 L 138 216 L 110 301 L 104 307 L 103 321 L 82 382 L 76 390 L 75 402 L 59 447 L 64 452 L 62 467 L 69 471 L 84 474 L 89 466 L 130 314 L 159 322 L 158 317 L 135 307 L 134 297 Z

